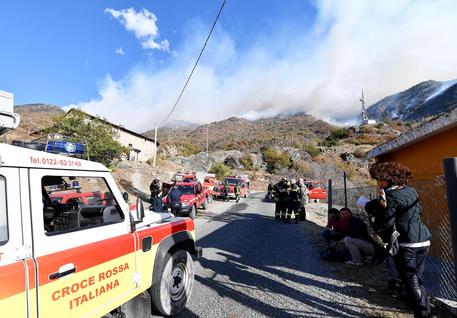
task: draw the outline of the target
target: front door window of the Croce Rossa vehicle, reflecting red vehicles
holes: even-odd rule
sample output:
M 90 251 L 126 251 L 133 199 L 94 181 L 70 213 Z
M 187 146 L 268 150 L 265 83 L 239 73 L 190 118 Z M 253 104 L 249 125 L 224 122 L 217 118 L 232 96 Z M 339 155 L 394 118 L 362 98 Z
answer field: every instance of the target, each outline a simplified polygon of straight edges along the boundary
M 124 214 L 104 178 L 44 176 L 41 192 L 46 235 L 124 220 Z

